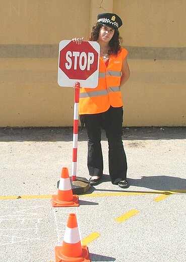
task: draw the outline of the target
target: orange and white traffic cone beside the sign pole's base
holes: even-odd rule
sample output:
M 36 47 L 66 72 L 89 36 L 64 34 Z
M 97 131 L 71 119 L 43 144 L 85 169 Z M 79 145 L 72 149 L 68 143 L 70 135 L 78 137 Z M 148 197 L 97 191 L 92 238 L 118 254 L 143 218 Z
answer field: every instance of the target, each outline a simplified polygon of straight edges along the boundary
M 57 195 L 52 195 L 52 206 L 79 206 L 78 196 L 73 195 L 72 192 L 69 171 L 67 167 L 62 168 L 58 193 Z

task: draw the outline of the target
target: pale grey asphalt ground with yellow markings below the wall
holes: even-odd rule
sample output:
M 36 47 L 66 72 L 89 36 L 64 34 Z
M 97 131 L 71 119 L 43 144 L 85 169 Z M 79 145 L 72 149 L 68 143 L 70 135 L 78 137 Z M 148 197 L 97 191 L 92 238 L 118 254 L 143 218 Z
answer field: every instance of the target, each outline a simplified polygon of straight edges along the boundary
M 70 213 L 91 261 L 186 261 L 186 127 L 123 127 L 126 190 L 104 175 L 79 207 L 52 207 L 63 167 L 71 176 L 73 128 L 0 128 L 0 261 L 54 262 Z M 89 179 L 86 130 L 79 130 L 77 176 Z

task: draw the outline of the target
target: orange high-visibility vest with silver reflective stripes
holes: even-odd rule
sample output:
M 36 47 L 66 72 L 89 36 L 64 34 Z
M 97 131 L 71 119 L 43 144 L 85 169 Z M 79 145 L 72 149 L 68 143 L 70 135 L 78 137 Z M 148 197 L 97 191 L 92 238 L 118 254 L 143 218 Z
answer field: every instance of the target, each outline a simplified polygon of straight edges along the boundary
M 121 107 L 120 78 L 122 61 L 127 56 L 126 49 L 121 48 L 117 54 L 111 55 L 108 66 L 99 58 L 99 79 L 95 89 L 81 88 L 79 100 L 79 114 L 102 113 L 112 107 Z

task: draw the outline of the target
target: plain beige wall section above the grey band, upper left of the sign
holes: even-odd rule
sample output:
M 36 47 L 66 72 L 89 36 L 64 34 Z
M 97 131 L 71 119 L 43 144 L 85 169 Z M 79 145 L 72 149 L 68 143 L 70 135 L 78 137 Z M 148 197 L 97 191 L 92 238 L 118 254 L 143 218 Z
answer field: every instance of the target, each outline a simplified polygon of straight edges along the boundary
M 1 0 L 1 44 L 58 44 L 74 33 L 88 35 L 88 0 Z

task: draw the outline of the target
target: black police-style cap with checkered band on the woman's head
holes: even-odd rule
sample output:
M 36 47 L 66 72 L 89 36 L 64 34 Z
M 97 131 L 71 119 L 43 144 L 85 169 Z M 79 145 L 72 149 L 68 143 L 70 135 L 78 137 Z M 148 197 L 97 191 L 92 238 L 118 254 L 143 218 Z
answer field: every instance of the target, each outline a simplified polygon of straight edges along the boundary
M 122 25 L 120 17 L 112 13 L 103 13 L 97 16 L 97 22 L 102 25 L 107 25 L 114 29 L 118 29 Z

